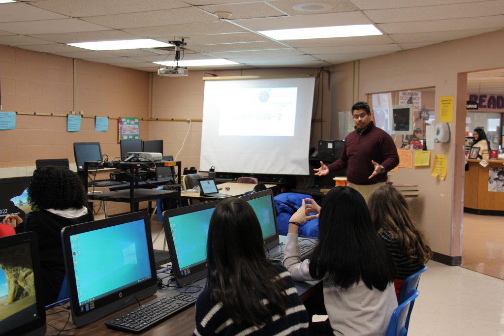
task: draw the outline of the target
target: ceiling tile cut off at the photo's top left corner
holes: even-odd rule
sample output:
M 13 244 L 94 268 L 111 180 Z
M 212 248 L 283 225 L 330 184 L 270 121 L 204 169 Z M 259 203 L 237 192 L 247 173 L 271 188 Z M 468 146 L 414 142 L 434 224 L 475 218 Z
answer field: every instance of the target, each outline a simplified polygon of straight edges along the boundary
M 67 19 L 65 15 L 42 10 L 28 4 L 10 3 L 2 4 L 0 11 L 0 22 L 18 22 L 18 21 L 38 21 Z

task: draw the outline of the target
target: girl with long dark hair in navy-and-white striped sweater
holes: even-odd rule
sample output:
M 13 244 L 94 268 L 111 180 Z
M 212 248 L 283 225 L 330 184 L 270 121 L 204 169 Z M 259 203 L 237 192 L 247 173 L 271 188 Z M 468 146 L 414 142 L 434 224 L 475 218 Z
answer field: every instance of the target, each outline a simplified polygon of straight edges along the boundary
M 261 226 L 242 199 L 221 201 L 210 220 L 208 283 L 196 302 L 196 335 L 305 335 L 308 316 L 289 272 L 271 264 Z

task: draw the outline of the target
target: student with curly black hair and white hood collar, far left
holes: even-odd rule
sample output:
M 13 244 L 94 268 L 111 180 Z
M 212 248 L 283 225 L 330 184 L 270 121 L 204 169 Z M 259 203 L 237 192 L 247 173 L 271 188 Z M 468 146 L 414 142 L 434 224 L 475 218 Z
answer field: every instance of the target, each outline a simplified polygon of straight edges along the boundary
M 20 223 L 21 219 L 14 216 L 5 221 L 15 226 L 16 233 L 37 234 L 44 297 L 46 304 L 50 304 L 56 301 L 65 276 L 61 229 L 93 221 L 93 213 L 87 208 L 81 179 L 66 167 L 45 166 L 35 170 L 28 186 L 28 201 L 33 211 L 26 222 Z

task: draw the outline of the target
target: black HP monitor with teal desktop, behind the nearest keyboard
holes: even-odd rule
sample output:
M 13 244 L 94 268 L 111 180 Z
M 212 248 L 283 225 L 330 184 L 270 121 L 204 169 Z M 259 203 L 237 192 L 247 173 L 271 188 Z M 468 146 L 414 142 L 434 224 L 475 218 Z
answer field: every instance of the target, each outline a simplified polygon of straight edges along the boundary
M 157 291 L 146 212 L 61 230 L 72 319 L 82 326 Z

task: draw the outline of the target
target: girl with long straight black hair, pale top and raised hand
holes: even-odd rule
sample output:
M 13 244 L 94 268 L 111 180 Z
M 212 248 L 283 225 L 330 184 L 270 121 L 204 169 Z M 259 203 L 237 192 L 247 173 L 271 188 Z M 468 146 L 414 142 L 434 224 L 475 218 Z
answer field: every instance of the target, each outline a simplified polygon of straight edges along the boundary
M 292 215 L 283 264 L 294 280 L 322 279 L 324 304 L 334 334 L 384 335 L 397 307 L 395 265 L 372 225 L 362 195 L 336 187 L 324 197 L 319 243 L 309 259 L 299 258 L 297 231 L 311 219 L 301 208 Z

